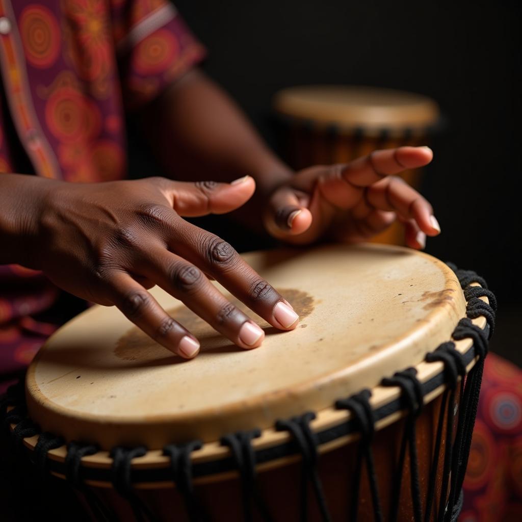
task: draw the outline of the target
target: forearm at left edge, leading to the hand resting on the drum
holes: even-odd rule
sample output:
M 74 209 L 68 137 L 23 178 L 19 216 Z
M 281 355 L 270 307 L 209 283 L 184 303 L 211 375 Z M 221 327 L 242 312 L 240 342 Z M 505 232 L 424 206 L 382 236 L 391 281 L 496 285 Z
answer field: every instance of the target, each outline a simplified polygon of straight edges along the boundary
M 0 264 L 32 266 L 31 245 L 38 229 L 39 207 L 52 183 L 38 176 L 0 174 Z

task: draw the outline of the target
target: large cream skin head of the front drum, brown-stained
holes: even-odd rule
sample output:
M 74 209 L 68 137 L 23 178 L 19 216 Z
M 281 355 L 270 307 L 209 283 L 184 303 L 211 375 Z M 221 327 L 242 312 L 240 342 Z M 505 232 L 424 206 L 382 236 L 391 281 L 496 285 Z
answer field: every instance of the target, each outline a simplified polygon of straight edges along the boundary
M 185 361 L 115 307 L 94 306 L 32 362 L 31 418 L 104 449 L 215 441 L 377 385 L 421 362 L 465 314 L 454 273 L 406 248 L 336 245 L 244 257 L 300 314 L 295 330 L 282 333 L 249 311 L 266 338 L 242 350 L 155 288 L 160 304 L 201 341 L 198 357 Z

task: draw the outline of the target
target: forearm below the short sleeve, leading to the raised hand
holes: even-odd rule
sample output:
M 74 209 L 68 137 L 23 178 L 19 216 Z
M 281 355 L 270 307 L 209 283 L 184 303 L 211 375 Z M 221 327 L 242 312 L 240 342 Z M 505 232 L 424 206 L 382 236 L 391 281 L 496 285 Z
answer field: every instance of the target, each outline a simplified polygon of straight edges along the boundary
M 241 110 L 203 73 L 188 73 L 146 111 L 145 134 L 168 174 L 232 181 L 244 175 L 266 194 L 291 170 L 265 145 Z

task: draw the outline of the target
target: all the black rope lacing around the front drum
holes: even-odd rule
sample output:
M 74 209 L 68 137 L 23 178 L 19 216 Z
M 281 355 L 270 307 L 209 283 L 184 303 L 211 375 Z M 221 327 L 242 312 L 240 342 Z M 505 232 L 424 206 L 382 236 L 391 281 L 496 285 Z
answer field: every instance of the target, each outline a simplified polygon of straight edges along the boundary
M 361 392 L 359 394 L 352 395 L 348 399 L 339 400 L 336 402 L 337 407 L 350 409 L 354 413 L 353 418 L 349 419 L 348 422 L 343 423 L 342 426 L 334 426 L 334 428 L 315 433 L 310 428 L 310 421 L 315 417 L 315 414 L 313 412 L 309 412 L 304 414 L 302 417 L 281 420 L 276 423 L 279 429 L 290 431 L 294 438 L 293 442 L 290 444 L 282 444 L 280 445 L 279 449 L 276 447 L 259 449 L 255 451 L 251 446 L 251 440 L 253 437 L 242 437 L 239 451 L 236 450 L 234 452 L 234 450 L 232 450 L 232 459 L 226 459 L 225 461 L 228 467 L 227 469 L 233 469 L 234 467 L 243 468 L 240 469 L 240 473 L 248 480 L 248 486 L 251 488 L 249 492 L 253 495 L 258 508 L 262 506 L 263 503 L 259 501 L 257 492 L 254 493 L 255 465 L 259 464 L 260 462 L 278 458 L 284 454 L 298 452 L 303 456 L 302 478 L 303 484 L 306 484 L 306 491 L 308 487 L 307 482 L 311 480 L 317 503 L 321 508 L 322 517 L 324 520 L 329 520 L 326 501 L 324 499 L 324 494 L 321 487 L 321 481 L 316 473 L 316 463 L 318 457 L 317 446 L 348 433 L 359 433 L 362 444 L 360 453 L 361 455 L 364 455 L 367 471 L 369 471 L 369 481 L 371 484 L 372 499 L 374 503 L 373 509 L 375 520 L 381 519 L 379 518 L 382 516 L 380 513 L 381 508 L 378 504 L 378 497 L 375 495 L 377 488 L 375 485 L 375 472 L 372 469 L 373 465 L 371 449 L 368 439 L 371 440 L 374 430 L 374 423 L 377 420 L 383 419 L 389 416 L 389 414 L 398 410 L 404 410 L 406 405 L 408 410 L 408 417 L 406 419 L 406 425 L 404 428 L 404 440 L 401 446 L 405 448 L 406 442 L 408 442 L 410 446 L 410 493 L 414 502 L 414 519 L 424 519 L 426 521 L 431 520 L 432 508 L 437 507 L 434 506 L 433 503 L 434 483 L 437 474 L 438 459 L 440 458 L 438 450 L 441 447 L 441 434 L 444 417 L 446 417 L 447 434 L 443 465 L 443 494 L 441 494 L 440 506 L 438 506 L 437 509 L 438 513 L 437 511 L 435 512 L 434 519 L 437 520 L 437 522 L 449 522 L 457 519 L 462 505 L 461 488 L 462 482 L 464 481 L 464 475 L 469 456 L 474 419 L 477 413 L 483 363 L 484 358 L 488 352 L 488 339 L 491 337 L 494 330 L 496 299 L 492 292 L 487 289 L 487 284 L 485 281 L 477 276 L 474 272 L 467 270 L 457 270 L 453 265 L 450 265 L 450 267 L 452 267 L 452 269 L 454 269 L 456 272 L 462 289 L 464 290 L 466 300 L 468 301 L 466 309 L 467 318 L 460 319 L 454 330 L 453 338 L 457 341 L 460 339 L 470 338 L 473 341 L 473 346 L 466 352 L 466 354 L 461 354 L 455 349 L 455 344 L 449 341 L 442 343 L 435 350 L 426 354 L 426 362 L 432 363 L 440 361 L 444 364 L 444 372 L 441 377 L 441 381 L 439 381 L 439 376 L 437 376 L 437 378 L 434 377 L 430 379 L 430 381 L 421 384 L 417 380 L 415 369 L 396 372 L 394 377 L 383 379 L 382 384 L 388 386 L 398 386 L 401 388 L 401 398 L 399 400 L 392 401 L 391 403 L 388 403 L 376 410 L 372 410 L 371 416 L 368 414 L 369 412 L 367 411 L 367 406 L 364 406 L 361 409 L 358 406 L 354 406 L 355 404 L 364 405 L 364 400 L 367 401 L 367 399 L 370 397 L 369 392 L 367 392 L 366 395 L 362 395 L 364 392 Z M 482 287 L 471 286 L 472 283 L 477 282 L 480 283 Z M 481 296 L 487 297 L 489 304 L 480 300 L 479 298 Z M 478 315 L 484 316 L 487 321 L 484 329 L 481 329 L 471 323 L 470 318 L 477 317 Z M 473 359 L 476 359 L 476 364 L 474 364 L 467 377 L 464 378 L 466 366 Z M 460 394 L 458 404 L 455 402 L 455 396 L 457 382 L 459 379 Z M 442 406 L 437 423 L 437 432 L 434 446 L 435 451 L 432 460 L 433 467 L 430 473 L 428 496 L 426 497 L 426 512 L 424 513 L 423 517 L 421 512 L 422 502 L 420 501 L 420 491 L 418 488 L 418 462 L 416 450 L 414 449 L 414 430 L 416 418 L 420 413 L 420 409 L 422 408 L 424 397 L 441 384 L 445 384 L 447 389 L 443 395 Z M 453 417 L 457 413 L 457 410 L 459 411 L 459 418 L 456 429 L 455 443 L 451 444 L 450 442 L 448 443 L 448 441 L 452 440 Z M 362 414 L 362 411 L 365 411 L 365 413 Z M 11 425 L 11 427 L 14 425 L 14 427 L 11 429 L 11 438 L 15 443 L 15 447 L 22 446 L 23 438 L 33 436 L 39 432 L 39 426 L 27 417 L 23 379 L 21 379 L 21 381 L 16 385 L 10 386 L 7 390 L 7 394 L 0 400 L 0 413 L 4 417 L 4 425 Z M 41 442 L 42 436 L 43 441 Z M 237 437 L 238 435 L 235 436 Z M 231 448 L 234 443 L 231 444 L 230 442 L 233 440 L 237 439 L 229 435 L 221 442 L 223 445 Z M 32 460 L 39 464 L 40 469 L 46 469 L 48 471 L 56 470 L 56 467 L 51 469 L 50 465 L 54 463 L 44 458 L 44 456 L 46 456 L 48 451 L 55 447 L 58 442 L 61 441 L 60 437 L 57 435 L 50 433 L 40 435 L 37 446 L 34 448 L 35 453 L 32 454 Z M 165 455 L 170 455 L 171 458 L 174 459 L 180 458 L 179 455 L 182 455 L 182 459 L 184 459 L 183 470 L 180 471 L 179 468 L 176 468 L 176 465 L 174 465 L 171 468 L 171 475 L 172 480 L 178 484 L 180 492 L 186 496 L 185 500 L 187 503 L 187 511 L 191 520 L 204 519 L 203 515 L 201 514 L 202 512 L 199 511 L 199 508 L 196 507 L 197 503 L 193 495 L 193 474 L 194 476 L 201 476 L 206 474 L 201 472 L 202 469 L 207 472 L 209 470 L 210 472 L 216 472 L 216 466 L 213 466 L 211 462 L 207 463 L 209 464 L 207 466 L 205 463 L 203 466 L 192 466 L 189 463 L 189 454 L 193 450 L 197 449 L 199 445 L 200 442 L 195 441 L 194 444 L 189 443 L 187 445 L 167 445 L 164 447 Z M 81 457 L 89 454 L 92 455 L 94 452 L 96 452 L 97 449 L 98 448 L 96 446 L 82 445 L 77 442 L 69 443 L 67 446 L 66 468 L 68 471 L 66 473 L 66 477 L 68 481 L 80 491 L 83 490 L 81 487 L 82 481 L 86 480 L 85 476 L 82 476 L 82 471 L 88 470 L 87 468 L 84 469 L 81 466 Z M 178 451 L 182 453 L 177 453 Z M 131 467 L 132 459 L 139 455 L 144 455 L 146 452 L 147 449 L 145 447 L 114 448 L 111 452 L 111 456 L 113 457 L 112 483 L 115 489 L 120 492 L 120 494 L 122 494 L 127 500 L 129 500 L 129 502 L 131 502 L 137 520 L 149 520 L 152 522 L 152 520 L 155 520 L 155 516 L 151 513 L 150 509 L 145 505 L 145 503 L 139 500 L 137 494 L 134 493 L 133 483 L 136 482 L 135 475 L 137 476 L 137 473 Z M 400 468 L 400 470 L 402 470 L 405 463 L 405 449 L 401 453 L 402 455 L 397 463 L 397 466 Z M 241 455 L 241 459 L 237 458 L 239 455 Z M 245 464 L 245 456 L 247 457 L 247 464 Z M 360 483 L 362 469 L 362 456 L 360 458 L 361 462 L 357 465 L 358 483 Z M 450 487 L 448 501 L 446 503 L 445 500 L 448 487 L 447 477 L 449 477 L 449 473 L 447 473 L 447 471 L 449 462 L 451 462 L 451 480 L 449 484 Z M 221 462 L 221 467 L 222 466 L 223 461 Z M 194 471 L 197 469 L 197 467 L 199 467 L 200 470 L 199 472 L 195 473 Z M 223 469 L 221 469 L 221 471 L 222 470 Z M 181 479 L 180 477 L 183 478 Z M 181 483 L 183 483 L 183 487 L 180 487 Z M 396 513 L 396 506 L 399 502 L 400 493 L 400 488 L 395 487 L 395 494 L 392 497 L 392 517 L 390 519 L 395 519 L 394 513 Z M 247 496 L 248 495 L 246 495 L 244 492 L 243 498 L 246 499 Z M 307 503 L 305 503 L 306 501 L 304 500 L 306 497 L 304 486 L 301 496 L 302 518 L 303 520 L 306 520 Z M 89 492 L 86 497 L 93 510 L 98 513 L 97 518 L 100 520 L 111 519 L 106 515 L 103 515 L 103 518 L 101 518 L 100 514 L 103 512 L 106 514 L 108 511 L 106 511 L 106 509 L 100 509 L 101 502 L 99 499 L 97 499 L 96 494 Z M 250 501 L 250 499 L 248 501 Z M 444 505 L 445 503 L 446 505 Z M 262 511 L 262 509 L 263 508 L 260 508 L 260 511 Z M 352 507 L 352 510 L 353 509 L 354 508 Z

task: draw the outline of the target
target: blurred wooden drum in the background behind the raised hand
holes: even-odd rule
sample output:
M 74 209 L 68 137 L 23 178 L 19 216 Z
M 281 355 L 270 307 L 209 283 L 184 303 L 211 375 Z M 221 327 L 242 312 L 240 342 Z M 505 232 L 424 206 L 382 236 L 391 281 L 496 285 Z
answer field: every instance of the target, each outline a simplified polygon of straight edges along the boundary
M 296 170 L 348 163 L 377 149 L 428 145 L 442 122 L 432 99 L 376 87 L 291 87 L 276 94 L 274 108 L 285 124 L 283 156 Z M 419 174 L 407 170 L 401 177 L 417 187 Z M 404 227 L 395 224 L 373 241 L 404 244 Z

